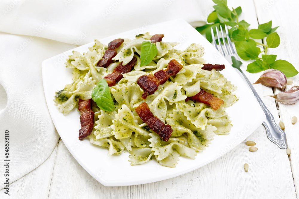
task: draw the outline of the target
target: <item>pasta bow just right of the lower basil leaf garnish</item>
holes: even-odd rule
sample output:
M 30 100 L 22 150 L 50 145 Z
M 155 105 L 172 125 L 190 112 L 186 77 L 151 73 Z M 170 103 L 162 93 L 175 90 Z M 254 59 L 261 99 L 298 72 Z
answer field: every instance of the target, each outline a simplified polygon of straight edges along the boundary
M 142 91 L 137 84 L 118 84 L 111 89 L 111 93 L 119 104 L 126 104 L 127 107 L 134 111 L 133 105 L 141 102 Z

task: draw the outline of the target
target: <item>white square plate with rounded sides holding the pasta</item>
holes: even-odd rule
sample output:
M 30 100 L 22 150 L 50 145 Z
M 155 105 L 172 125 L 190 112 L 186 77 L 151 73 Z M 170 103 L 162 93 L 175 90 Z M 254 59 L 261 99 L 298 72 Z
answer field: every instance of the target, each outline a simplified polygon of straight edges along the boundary
M 233 106 L 226 110 L 231 117 L 233 127 L 229 135 L 216 135 L 212 144 L 203 152 L 197 153 L 196 159 L 192 160 L 180 156 L 176 168 L 168 168 L 151 160 L 142 165 L 131 166 L 129 152 L 125 151 L 120 156 L 108 157 L 108 150 L 93 145 L 89 139 L 80 141 L 78 132 L 80 129 L 80 114 L 74 109 L 69 115 L 63 116 L 54 106 L 54 95 L 57 90 L 64 88 L 65 84 L 72 83 L 71 69 L 65 67 L 66 55 L 71 55 L 73 50 L 80 53 L 87 52 L 93 42 L 61 53 L 49 58 L 42 63 L 42 78 L 45 97 L 54 125 L 63 140 L 65 146 L 80 163 L 80 165 L 105 186 L 127 186 L 161 181 L 193 171 L 213 160 L 221 157 L 235 146 L 245 140 L 265 120 L 260 105 L 248 86 L 238 75 L 236 70 L 201 34 L 199 34 L 186 21 L 179 19 L 160 24 L 150 25 L 142 29 L 135 29 L 120 33 L 108 38 L 100 39 L 100 42 L 108 44 L 115 38 L 135 38 L 136 34 L 149 32 L 151 35 L 164 34 L 163 41 L 180 42 L 176 47 L 183 50 L 192 43 L 199 43 L 205 47 L 204 59 L 210 64 L 225 64 L 225 70 L 221 73 L 238 89 L 239 96 Z

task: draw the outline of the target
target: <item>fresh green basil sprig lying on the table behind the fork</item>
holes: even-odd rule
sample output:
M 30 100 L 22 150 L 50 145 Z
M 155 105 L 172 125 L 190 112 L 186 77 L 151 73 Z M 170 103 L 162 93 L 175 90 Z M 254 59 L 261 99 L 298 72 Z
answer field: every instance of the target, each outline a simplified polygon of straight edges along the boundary
M 231 28 L 228 30 L 229 36 L 235 43 L 237 54 L 243 60 L 255 60 L 248 64 L 247 71 L 251 73 L 260 72 L 267 69 L 276 69 L 282 71 L 286 77 L 293 77 L 298 74 L 295 67 L 285 60 L 276 60 L 277 55 L 267 55 L 269 48 L 276 48 L 280 44 L 280 38 L 275 32 L 278 27 L 272 28 L 272 21 L 265 24 L 260 24 L 257 29 L 248 30 L 250 24 L 246 21 L 239 21 L 238 16 L 242 13 L 241 7 L 232 8 L 230 10 L 227 6 L 227 0 L 213 0 L 214 11 L 208 16 L 208 23 L 205 26 L 197 27 L 199 33 L 205 33 L 208 41 L 212 42 L 211 27 L 213 28 L 214 36 L 216 35 L 216 28 L 224 27 L 226 24 Z M 266 37 L 266 43 L 265 38 Z M 226 39 L 226 38 L 225 38 Z M 253 39 L 262 39 L 263 43 L 256 42 Z M 216 40 L 217 44 L 218 41 Z M 221 38 L 221 42 L 223 42 Z M 264 48 L 260 50 L 258 46 Z M 261 57 L 260 53 L 264 52 Z M 236 62 L 234 62 L 236 63 Z M 241 62 L 238 62 L 240 65 Z

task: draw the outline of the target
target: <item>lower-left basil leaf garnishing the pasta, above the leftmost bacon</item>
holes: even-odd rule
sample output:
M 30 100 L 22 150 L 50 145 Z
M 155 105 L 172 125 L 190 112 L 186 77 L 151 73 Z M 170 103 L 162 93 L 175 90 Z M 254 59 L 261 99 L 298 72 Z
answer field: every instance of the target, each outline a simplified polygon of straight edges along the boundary
M 100 80 L 91 92 L 91 98 L 104 111 L 114 111 L 114 103 L 106 79 Z

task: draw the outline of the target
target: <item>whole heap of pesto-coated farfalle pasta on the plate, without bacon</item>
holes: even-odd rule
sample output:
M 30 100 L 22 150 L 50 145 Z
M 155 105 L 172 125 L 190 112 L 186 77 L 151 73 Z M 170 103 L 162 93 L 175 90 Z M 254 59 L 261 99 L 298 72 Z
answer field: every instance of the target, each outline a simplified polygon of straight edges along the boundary
M 237 90 L 219 71 L 203 70 L 205 64 L 204 48 L 200 44 L 191 44 L 185 50 L 176 49 L 177 43 L 155 42 L 157 54 L 149 64 L 141 65 L 141 45 L 151 41 L 151 35 L 145 33 L 135 39 L 124 39 L 117 54 L 111 58 L 113 63 L 107 68 L 97 66 L 103 58 L 107 46 L 95 40 L 86 53 L 74 51 L 66 60 L 66 67 L 73 69 L 73 83 L 65 85 L 55 93 L 55 105 L 67 115 L 78 106 L 78 99 L 91 99 L 91 92 L 106 75 L 112 74 L 121 62 L 128 64 L 133 57 L 136 63 L 130 72 L 114 86 L 109 87 L 115 109 L 108 112 L 92 103 L 94 128 L 88 136 L 91 144 L 108 148 L 108 155 L 120 155 L 129 151 L 131 165 L 147 163 L 152 159 L 162 166 L 174 168 L 179 156 L 196 158 L 213 140 L 213 136 L 228 135 L 232 127 L 225 107 L 233 105 L 238 97 Z M 182 69 L 145 99 L 144 90 L 137 84 L 143 75 L 154 75 L 165 70 L 170 60 L 176 60 Z M 109 62 L 110 63 L 110 62 Z M 163 71 L 162 71 L 163 72 Z M 214 110 L 209 104 L 189 100 L 201 90 L 209 92 L 223 100 L 220 108 Z M 147 123 L 139 117 L 135 108 L 142 102 L 147 103 L 150 112 L 172 129 L 168 141 L 164 141 Z

